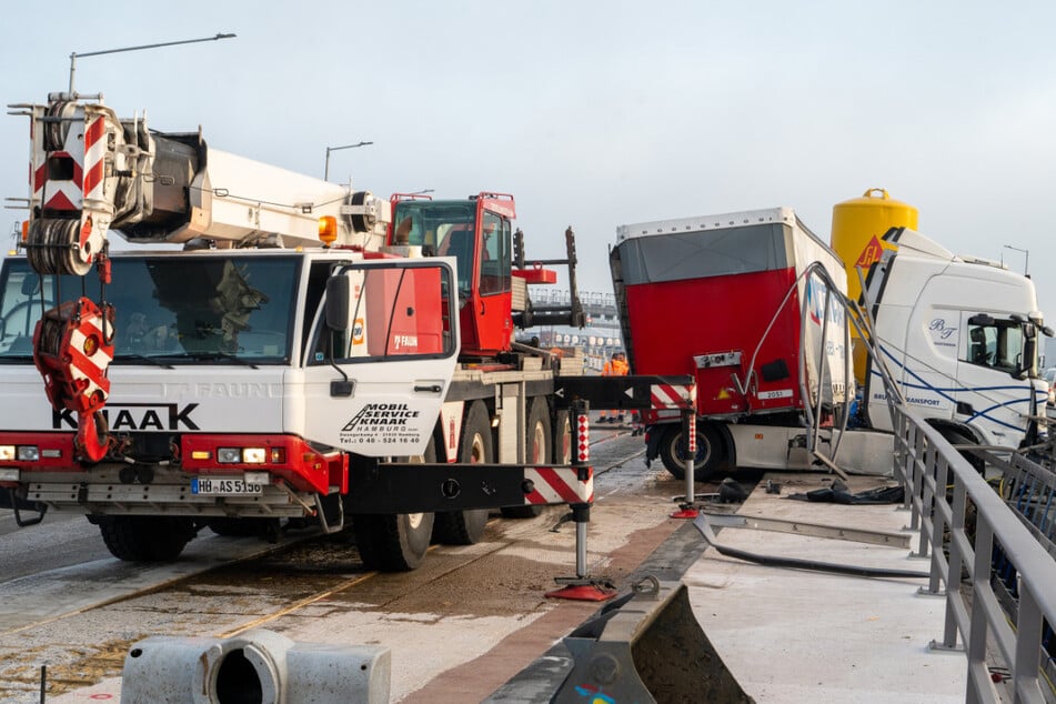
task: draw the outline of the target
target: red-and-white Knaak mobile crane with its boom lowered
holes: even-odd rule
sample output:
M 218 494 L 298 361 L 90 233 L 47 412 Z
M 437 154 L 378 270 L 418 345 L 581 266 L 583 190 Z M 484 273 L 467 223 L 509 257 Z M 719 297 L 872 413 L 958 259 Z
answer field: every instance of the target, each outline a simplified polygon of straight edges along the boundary
M 591 501 L 589 471 L 550 466 L 571 446 L 556 360 L 514 342 L 582 310 L 533 310 L 556 274 L 525 264 L 512 197 L 390 201 L 100 95 L 12 108 L 32 137 L 24 254 L 0 270 L 13 506 L 84 513 L 130 561 L 207 525 L 351 522 L 369 565 L 410 570 L 491 509 Z

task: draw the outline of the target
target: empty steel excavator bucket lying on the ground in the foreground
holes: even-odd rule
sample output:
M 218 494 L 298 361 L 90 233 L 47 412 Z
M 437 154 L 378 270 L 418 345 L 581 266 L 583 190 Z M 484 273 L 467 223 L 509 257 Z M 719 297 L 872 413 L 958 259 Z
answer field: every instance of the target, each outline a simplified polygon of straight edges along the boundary
M 574 665 L 553 702 L 737 702 L 752 697 L 704 634 L 684 584 L 647 576 L 564 644 Z

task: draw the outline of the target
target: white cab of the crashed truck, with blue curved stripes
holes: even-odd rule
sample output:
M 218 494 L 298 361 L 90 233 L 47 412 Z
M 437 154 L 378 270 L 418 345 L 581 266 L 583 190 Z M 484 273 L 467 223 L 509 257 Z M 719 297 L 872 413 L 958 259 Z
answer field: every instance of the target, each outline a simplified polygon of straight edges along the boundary
M 879 360 L 917 406 L 954 440 L 1015 449 L 1033 435 L 1047 385 L 1037 369 L 1034 283 L 1006 266 L 958 257 L 913 230 L 869 272 L 864 292 Z M 877 360 L 864 400 L 869 424 L 891 430 Z

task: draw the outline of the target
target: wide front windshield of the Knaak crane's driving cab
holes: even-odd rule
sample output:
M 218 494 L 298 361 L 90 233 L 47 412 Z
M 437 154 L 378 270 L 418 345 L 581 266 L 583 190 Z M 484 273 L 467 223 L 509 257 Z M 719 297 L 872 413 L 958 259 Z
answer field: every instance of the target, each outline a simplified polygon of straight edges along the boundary
M 254 364 L 290 359 L 300 259 L 294 257 L 113 258 L 107 300 L 114 306 L 114 363 L 163 358 L 167 363 Z M 32 354 L 44 309 L 87 295 L 93 275 L 40 276 L 9 259 L 0 280 L 0 360 Z

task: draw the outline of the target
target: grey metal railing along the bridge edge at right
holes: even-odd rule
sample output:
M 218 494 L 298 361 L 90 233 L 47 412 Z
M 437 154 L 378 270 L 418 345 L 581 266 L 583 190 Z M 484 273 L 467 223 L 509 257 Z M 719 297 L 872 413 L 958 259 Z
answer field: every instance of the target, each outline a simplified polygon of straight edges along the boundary
M 895 479 L 906 487 L 909 527 L 919 530 L 916 553 L 931 559 L 922 593 L 946 599 L 944 632 L 932 646 L 966 652 L 966 702 L 1002 702 L 1008 694 L 1015 702 L 1056 701 L 1052 654 L 1043 643 L 1056 625 L 1056 560 L 938 431 L 909 409 L 892 410 Z M 994 575 L 995 555 L 1014 571 L 1014 610 L 998 597 L 1004 583 Z M 995 670 L 995 656 L 1007 673 Z M 995 673 L 1007 690 L 995 684 Z

